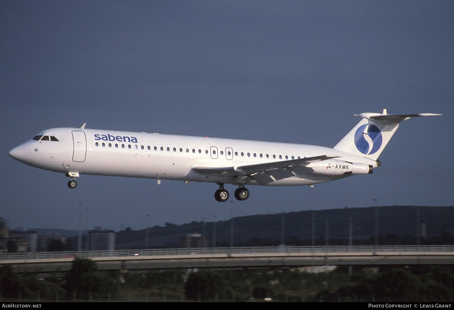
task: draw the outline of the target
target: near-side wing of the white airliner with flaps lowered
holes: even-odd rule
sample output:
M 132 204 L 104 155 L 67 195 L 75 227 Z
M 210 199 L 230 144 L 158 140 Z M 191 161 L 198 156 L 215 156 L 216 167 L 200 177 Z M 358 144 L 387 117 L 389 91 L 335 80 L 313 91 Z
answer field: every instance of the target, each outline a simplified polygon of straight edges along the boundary
M 278 162 L 264 162 L 237 167 L 193 167 L 198 173 L 215 177 L 236 177 L 250 176 L 260 185 L 264 185 L 275 180 L 295 176 L 292 167 L 306 166 L 312 162 L 340 157 L 337 155 L 320 155 L 300 159 L 289 159 Z

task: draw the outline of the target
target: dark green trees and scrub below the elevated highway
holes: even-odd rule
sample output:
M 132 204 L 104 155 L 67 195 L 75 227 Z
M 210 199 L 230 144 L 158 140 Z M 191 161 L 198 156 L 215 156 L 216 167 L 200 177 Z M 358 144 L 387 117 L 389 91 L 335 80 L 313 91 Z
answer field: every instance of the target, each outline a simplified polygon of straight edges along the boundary
M 454 301 L 454 266 L 355 267 L 311 273 L 301 268 L 100 271 L 75 258 L 61 278 L 0 268 L 5 300 L 119 301 Z

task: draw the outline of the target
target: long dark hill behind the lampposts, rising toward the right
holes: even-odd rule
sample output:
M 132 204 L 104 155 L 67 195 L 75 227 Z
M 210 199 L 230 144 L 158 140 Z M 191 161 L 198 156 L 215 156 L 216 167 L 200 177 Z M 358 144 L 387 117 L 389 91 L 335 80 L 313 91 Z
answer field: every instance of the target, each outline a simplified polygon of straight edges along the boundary
M 420 221 L 427 227 L 427 237 L 439 236 L 444 232 L 454 235 L 454 207 L 386 206 L 378 207 L 379 234 L 392 233 L 400 237 L 416 235 L 417 210 Z M 375 234 L 375 207 L 316 210 L 316 237 L 325 237 L 326 219 L 329 219 L 330 238 L 348 238 L 348 218 L 352 218 L 353 238 L 365 239 Z M 251 215 L 235 217 L 234 242 L 245 242 L 252 238 L 281 240 L 281 214 Z M 187 233 L 202 232 L 202 222 L 149 228 L 150 247 L 179 247 L 180 238 Z M 212 222 L 206 223 L 206 236 L 212 246 Z M 311 239 L 312 211 L 288 212 L 285 214 L 285 236 Z M 230 221 L 216 222 L 217 243 L 230 241 Z M 117 232 L 117 249 L 137 249 L 145 245 L 145 229 Z

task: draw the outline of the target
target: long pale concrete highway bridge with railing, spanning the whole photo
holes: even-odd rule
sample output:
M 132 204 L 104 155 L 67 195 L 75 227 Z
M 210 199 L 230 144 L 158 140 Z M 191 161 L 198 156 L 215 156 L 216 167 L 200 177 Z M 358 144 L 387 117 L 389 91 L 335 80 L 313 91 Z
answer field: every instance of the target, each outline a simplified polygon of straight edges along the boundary
M 0 266 L 45 276 L 90 258 L 100 270 L 148 272 L 168 268 L 452 265 L 454 246 L 278 246 L 0 254 Z

